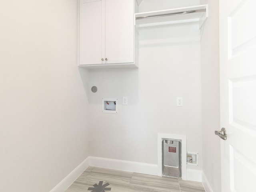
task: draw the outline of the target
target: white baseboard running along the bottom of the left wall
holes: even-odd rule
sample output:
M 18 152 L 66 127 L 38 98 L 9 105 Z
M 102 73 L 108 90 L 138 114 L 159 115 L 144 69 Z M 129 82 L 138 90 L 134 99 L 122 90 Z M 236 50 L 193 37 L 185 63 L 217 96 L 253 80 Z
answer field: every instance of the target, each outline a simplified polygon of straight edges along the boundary
M 66 176 L 58 185 L 56 185 L 50 192 L 64 192 L 70 185 L 86 170 L 89 166 L 90 157 L 86 158 L 80 165 L 78 165 L 68 176 Z

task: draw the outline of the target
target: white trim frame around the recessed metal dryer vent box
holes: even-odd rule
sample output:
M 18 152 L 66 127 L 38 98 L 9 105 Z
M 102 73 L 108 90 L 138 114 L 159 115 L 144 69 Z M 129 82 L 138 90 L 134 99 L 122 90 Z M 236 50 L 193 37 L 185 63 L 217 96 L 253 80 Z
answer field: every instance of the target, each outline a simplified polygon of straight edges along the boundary
M 173 134 L 158 134 L 158 176 L 162 177 L 162 140 L 166 139 L 177 139 L 181 140 L 181 177 L 183 180 L 187 180 L 187 158 L 186 158 L 186 135 L 173 135 Z

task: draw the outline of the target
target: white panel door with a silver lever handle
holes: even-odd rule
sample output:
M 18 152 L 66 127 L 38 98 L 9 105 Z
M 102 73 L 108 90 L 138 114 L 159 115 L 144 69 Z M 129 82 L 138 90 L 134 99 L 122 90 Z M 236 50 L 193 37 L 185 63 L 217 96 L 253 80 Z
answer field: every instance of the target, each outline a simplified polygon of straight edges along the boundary
M 256 0 L 220 0 L 222 192 L 256 192 Z

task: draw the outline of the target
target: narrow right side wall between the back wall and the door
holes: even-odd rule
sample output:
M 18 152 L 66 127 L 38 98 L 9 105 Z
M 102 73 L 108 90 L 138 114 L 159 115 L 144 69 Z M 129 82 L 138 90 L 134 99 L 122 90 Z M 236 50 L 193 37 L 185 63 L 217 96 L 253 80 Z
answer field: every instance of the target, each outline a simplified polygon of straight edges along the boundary
M 209 18 L 205 22 L 201 41 L 202 69 L 202 136 L 203 182 L 210 190 L 221 191 L 220 138 L 220 80 L 219 80 L 219 1 L 201 0 L 209 4 Z M 210 191 L 209 190 L 209 191 Z

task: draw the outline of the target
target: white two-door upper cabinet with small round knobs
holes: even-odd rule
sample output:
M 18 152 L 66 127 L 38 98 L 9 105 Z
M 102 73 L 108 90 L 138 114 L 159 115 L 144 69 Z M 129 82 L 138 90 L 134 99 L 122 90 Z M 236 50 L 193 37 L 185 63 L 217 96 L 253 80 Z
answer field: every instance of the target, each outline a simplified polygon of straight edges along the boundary
M 136 68 L 134 0 L 80 0 L 79 66 Z

